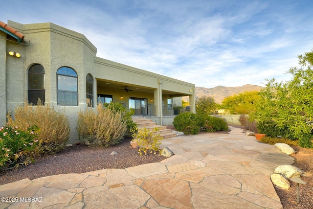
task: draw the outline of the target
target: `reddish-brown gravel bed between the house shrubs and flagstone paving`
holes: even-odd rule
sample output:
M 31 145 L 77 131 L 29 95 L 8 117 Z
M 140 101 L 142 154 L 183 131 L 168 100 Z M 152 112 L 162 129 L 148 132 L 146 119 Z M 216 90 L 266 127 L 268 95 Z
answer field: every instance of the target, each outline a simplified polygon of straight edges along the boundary
M 55 155 L 42 156 L 36 163 L 22 167 L 17 171 L 0 173 L 0 185 L 16 182 L 25 178 L 30 180 L 44 176 L 64 173 L 85 173 L 105 168 L 127 168 L 140 164 L 160 162 L 167 157 L 160 154 L 139 155 L 137 149 L 130 148 L 132 139 L 125 138 L 121 143 L 112 147 L 86 146 L 85 144 L 66 147 Z

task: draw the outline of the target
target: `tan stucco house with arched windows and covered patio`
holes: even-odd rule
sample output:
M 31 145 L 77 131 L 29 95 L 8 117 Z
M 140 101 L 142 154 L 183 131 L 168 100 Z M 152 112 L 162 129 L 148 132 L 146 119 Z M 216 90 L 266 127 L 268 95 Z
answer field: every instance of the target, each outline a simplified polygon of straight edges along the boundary
M 195 112 L 195 85 L 96 56 L 81 33 L 53 23 L 0 22 L 0 126 L 24 101 L 49 102 L 65 110 L 70 141 L 78 139 L 77 112 L 97 102 L 119 102 L 134 116 L 172 124 L 174 106 L 189 96 Z

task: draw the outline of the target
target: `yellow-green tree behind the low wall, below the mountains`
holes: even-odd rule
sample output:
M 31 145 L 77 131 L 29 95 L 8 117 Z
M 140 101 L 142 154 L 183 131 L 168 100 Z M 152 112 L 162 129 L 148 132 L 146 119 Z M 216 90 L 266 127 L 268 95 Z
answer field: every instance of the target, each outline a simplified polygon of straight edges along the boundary
M 255 111 L 256 100 L 259 98 L 258 91 L 244 92 L 225 97 L 222 101 L 222 108 L 229 110 L 230 114 L 242 115 Z

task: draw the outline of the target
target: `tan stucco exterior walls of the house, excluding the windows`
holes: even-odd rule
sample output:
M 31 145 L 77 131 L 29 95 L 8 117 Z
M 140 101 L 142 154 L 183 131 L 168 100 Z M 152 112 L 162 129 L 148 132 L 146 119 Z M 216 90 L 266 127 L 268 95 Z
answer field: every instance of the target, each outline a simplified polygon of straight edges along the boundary
M 21 53 L 21 58 L 8 57 L 7 65 L 0 66 L 0 72 L 6 74 L 6 82 L 0 83 L 0 87 L 6 89 L 4 91 L 6 94 L 0 93 L 0 98 L 6 97 L 4 100 L 7 101 L 6 103 L 0 101 L 0 119 L 5 119 L 5 113 L 3 114 L 3 112 L 14 110 L 17 105 L 22 104 L 27 99 L 27 74 L 29 68 L 34 64 L 40 64 L 45 69 L 45 101 L 53 105 L 56 110 L 65 111 L 70 120 L 71 135 L 69 142 L 78 140 L 75 128 L 77 112 L 87 109 L 86 75 L 88 73 L 91 74 L 94 82 L 94 104 L 97 102 L 97 93 L 113 95 L 113 102 L 125 103 L 127 107 L 129 97 L 147 98 L 148 104 L 162 104 L 161 100 L 158 99 L 162 91 L 164 93 L 163 99 L 171 97 L 169 92 L 192 96 L 191 91 L 195 87 L 194 84 L 96 57 L 96 47 L 83 34 L 53 23 L 20 24 L 8 21 L 8 24 L 25 35 L 28 45 L 6 41 L 0 42 L 0 46 L 7 45 L 10 50 Z M 0 34 L 6 36 L 2 32 Z M 5 60 L 7 53 L 2 48 L 0 47 L 0 52 L 2 52 L 0 61 Z M 78 106 L 57 105 L 56 72 L 64 66 L 70 67 L 77 72 Z M 3 78 L 1 79 L 3 80 Z M 106 92 L 105 89 L 97 92 L 97 79 L 139 85 L 150 88 L 151 93 L 125 93 L 112 89 L 110 92 Z M 161 81 L 160 86 L 159 81 Z M 159 87 L 161 87 L 160 90 Z M 123 95 L 123 99 L 120 98 L 121 95 Z

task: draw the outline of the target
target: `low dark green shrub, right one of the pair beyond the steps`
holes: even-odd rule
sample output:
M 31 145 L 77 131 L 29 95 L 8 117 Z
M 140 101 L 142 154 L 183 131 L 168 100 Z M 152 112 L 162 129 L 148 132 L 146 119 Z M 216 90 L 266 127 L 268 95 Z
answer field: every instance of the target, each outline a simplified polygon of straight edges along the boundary
M 201 127 L 201 131 L 215 132 L 215 131 L 227 131 L 227 123 L 222 119 L 207 114 L 196 114 L 198 125 Z

